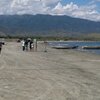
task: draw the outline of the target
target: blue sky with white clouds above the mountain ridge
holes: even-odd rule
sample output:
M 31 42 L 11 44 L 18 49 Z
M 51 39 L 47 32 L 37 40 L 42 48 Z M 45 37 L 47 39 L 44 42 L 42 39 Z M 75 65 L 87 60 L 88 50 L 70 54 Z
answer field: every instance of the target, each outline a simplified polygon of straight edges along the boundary
M 0 15 L 67 15 L 100 21 L 100 0 L 0 0 Z

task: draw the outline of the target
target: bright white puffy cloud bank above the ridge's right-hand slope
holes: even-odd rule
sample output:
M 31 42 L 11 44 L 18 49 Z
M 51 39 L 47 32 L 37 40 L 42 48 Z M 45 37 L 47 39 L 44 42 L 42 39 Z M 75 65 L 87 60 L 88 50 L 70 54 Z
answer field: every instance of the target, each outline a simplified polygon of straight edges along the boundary
M 54 15 L 69 15 L 77 18 L 84 18 L 94 21 L 100 21 L 100 13 L 96 10 L 96 5 L 85 5 L 78 6 L 73 2 L 63 6 L 61 3 L 58 3 L 55 8 L 52 10 Z

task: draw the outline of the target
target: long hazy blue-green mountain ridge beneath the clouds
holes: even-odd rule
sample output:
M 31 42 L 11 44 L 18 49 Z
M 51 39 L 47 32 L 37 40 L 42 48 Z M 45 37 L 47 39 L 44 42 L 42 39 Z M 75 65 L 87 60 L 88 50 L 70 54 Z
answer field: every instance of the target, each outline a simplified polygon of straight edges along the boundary
M 100 22 L 51 15 L 1 15 L 0 32 L 10 35 L 100 33 Z

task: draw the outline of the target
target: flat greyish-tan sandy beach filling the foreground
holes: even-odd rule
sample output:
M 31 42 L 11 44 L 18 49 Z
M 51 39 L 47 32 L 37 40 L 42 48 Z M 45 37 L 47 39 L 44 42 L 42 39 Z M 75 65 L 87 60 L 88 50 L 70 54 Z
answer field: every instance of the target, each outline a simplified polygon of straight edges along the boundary
M 7 43 L 0 55 L 0 100 L 100 100 L 100 56 L 38 44 L 23 52 Z

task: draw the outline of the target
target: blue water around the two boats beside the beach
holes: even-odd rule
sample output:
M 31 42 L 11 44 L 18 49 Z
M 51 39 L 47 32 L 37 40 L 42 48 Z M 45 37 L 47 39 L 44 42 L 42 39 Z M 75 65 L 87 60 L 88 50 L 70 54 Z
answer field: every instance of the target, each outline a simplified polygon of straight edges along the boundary
M 50 46 L 61 45 L 61 46 L 78 46 L 76 50 L 95 53 L 100 55 L 100 49 L 82 49 L 82 46 L 100 46 L 100 41 L 64 41 L 64 42 L 48 42 Z

